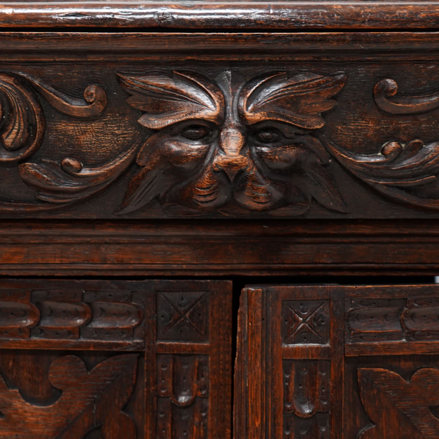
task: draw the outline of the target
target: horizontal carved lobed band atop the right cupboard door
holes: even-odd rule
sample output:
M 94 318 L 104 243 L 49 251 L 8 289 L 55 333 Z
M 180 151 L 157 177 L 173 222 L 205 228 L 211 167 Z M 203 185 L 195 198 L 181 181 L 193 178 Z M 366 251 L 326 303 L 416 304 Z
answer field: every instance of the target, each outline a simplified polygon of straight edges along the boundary
M 349 299 L 346 341 L 439 340 L 439 298 Z

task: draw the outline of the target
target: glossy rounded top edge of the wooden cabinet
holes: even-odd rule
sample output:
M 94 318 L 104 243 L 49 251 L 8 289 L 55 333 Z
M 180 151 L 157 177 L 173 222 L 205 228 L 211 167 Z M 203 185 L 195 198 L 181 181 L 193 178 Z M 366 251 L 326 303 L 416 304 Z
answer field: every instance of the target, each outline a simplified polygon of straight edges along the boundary
M 437 1 L 71 1 L 0 3 L 0 27 L 203 30 L 432 29 Z

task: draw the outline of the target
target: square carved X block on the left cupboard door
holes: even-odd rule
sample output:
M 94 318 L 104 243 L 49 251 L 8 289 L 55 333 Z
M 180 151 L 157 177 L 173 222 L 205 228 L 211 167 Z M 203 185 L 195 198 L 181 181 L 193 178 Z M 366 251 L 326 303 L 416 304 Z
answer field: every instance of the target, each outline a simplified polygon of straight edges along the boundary
M 157 340 L 209 342 L 209 292 L 158 291 Z

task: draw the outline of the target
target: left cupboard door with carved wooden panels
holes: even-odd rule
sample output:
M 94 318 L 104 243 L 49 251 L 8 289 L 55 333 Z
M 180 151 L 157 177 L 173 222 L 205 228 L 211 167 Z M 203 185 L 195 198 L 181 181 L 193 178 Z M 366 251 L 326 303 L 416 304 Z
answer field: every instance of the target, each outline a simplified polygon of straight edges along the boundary
M 0 281 L 0 438 L 229 439 L 230 349 L 227 281 Z

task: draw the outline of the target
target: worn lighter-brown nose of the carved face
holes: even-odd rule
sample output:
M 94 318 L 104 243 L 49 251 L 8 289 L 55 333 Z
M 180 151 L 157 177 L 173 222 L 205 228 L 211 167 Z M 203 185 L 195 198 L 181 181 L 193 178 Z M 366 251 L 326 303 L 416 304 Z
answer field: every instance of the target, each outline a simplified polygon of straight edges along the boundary
M 238 171 L 248 166 L 247 155 L 241 151 L 245 146 L 245 131 L 243 127 L 227 127 L 219 134 L 219 154 L 216 156 L 213 167 L 223 169 L 233 181 Z

